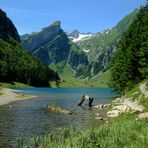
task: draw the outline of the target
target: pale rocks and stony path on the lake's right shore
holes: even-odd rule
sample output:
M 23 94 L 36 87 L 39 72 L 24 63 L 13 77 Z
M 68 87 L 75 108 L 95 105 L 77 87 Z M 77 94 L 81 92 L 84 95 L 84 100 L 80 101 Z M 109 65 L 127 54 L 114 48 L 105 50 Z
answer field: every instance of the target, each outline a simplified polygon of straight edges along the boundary
M 131 95 L 126 94 L 119 98 L 113 99 L 107 104 L 98 104 L 94 108 L 98 110 L 107 109 L 105 117 L 101 114 L 96 114 L 96 119 L 107 120 L 109 118 L 118 117 L 124 113 L 137 113 L 139 118 L 148 118 L 148 112 L 145 111 L 145 107 L 141 103 L 141 99 L 148 98 L 147 83 L 142 83 L 138 86 L 139 90 L 135 90 Z M 138 94 L 138 95 L 137 95 Z M 136 97 L 134 97 L 136 95 Z M 141 117 L 142 116 L 142 117 Z

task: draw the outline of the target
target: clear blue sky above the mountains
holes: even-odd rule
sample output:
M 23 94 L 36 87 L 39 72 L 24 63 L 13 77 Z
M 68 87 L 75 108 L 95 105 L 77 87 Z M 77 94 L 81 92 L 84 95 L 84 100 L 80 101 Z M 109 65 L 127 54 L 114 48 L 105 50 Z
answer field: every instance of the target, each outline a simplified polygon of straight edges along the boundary
M 19 34 L 40 31 L 56 20 L 65 31 L 100 32 L 114 27 L 146 0 L 0 0 Z

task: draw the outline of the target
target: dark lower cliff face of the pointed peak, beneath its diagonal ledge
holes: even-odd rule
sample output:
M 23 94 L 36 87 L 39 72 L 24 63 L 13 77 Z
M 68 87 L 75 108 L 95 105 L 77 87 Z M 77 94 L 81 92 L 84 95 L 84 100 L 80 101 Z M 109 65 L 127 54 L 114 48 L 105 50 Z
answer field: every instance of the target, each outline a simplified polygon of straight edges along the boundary
M 46 44 L 34 51 L 34 54 L 45 64 L 67 61 L 70 53 L 70 44 L 66 34 L 60 30 L 59 34 Z

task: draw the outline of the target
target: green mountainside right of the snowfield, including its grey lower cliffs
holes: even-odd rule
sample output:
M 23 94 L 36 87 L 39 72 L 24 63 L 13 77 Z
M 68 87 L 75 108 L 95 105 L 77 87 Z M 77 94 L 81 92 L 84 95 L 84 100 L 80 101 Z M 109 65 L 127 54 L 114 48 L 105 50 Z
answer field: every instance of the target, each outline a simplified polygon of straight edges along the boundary
M 136 9 L 124 17 L 114 28 L 99 32 L 94 37 L 79 43 L 79 47 L 87 54 L 92 65 L 91 75 L 107 68 L 122 35 L 135 19 L 138 11 Z

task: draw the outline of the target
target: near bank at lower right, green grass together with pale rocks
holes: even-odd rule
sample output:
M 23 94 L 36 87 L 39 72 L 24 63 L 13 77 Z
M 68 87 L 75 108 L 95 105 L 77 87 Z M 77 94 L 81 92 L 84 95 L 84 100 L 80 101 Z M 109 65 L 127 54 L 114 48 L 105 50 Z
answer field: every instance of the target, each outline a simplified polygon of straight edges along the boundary
M 17 147 L 27 148 L 146 148 L 148 147 L 148 83 L 137 85 L 125 96 L 109 104 L 94 106 L 106 108 L 105 117 L 98 113 L 98 120 L 106 120 L 98 128 L 81 130 L 63 128 L 45 136 L 17 138 Z

